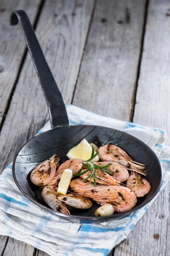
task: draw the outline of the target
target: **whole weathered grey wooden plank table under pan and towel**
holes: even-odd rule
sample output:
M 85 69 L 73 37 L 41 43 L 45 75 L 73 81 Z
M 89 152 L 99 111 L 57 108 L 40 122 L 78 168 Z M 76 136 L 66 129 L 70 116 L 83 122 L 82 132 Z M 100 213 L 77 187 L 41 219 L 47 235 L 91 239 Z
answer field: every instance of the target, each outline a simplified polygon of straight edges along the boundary
M 48 110 L 19 26 L 24 9 L 66 103 L 167 130 L 169 0 L 0 0 L 0 170 L 47 122 Z M 170 255 L 170 184 L 113 256 Z M 1 256 L 47 256 L 0 236 Z

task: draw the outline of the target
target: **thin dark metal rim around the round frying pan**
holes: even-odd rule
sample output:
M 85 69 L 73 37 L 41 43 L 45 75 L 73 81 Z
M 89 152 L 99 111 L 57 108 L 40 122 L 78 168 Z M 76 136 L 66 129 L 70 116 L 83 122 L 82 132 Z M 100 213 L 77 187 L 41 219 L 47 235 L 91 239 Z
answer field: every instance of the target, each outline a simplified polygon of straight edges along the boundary
M 114 129 L 114 128 L 109 128 L 109 127 L 105 127 L 105 126 L 100 126 L 100 125 L 69 125 L 68 127 L 59 127 L 57 128 L 57 130 L 59 129 L 63 129 L 63 128 L 70 128 L 71 126 L 96 126 L 96 127 L 102 127 L 102 128 L 106 128 L 106 129 L 112 129 L 112 130 L 116 130 L 116 131 L 120 131 L 120 130 L 117 130 L 117 129 Z M 56 129 L 55 129 L 56 130 Z M 161 171 L 161 179 L 159 181 L 159 186 L 157 187 L 156 189 L 156 192 L 150 196 L 150 198 L 148 198 L 145 202 L 142 202 L 139 206 L 137 207 L 134 207 L 132 209 L 130 209 L 129 211 L 127 212 L 118 212 L 116 213 L 115 215 L 111 215 L 111 216 L 103 216 L 103 217 L 93 217 L 93 216 L 81 216 L 81 215 L 67 215 L 65 213 L 62 213 L 62 212 L 56 212 L 54 211 L 53 209 L 51 208 L 48 208 L 46 206 L 44 206 L 43 204 L 40 204 L 39 202 L 37 202 L 36 200 L 34 200 L 31 195 L 27 195 L 26 192 L 22 189 L 22 187 L 20 186 L 20 183 L 18 182 L 17 180 L 17 177 L 16 177 L 16 174 L 15 174 L 15 163 L 16 163 L 16 159 L 17 159 L 17 156 L 19 154 L 19 152 L 22 150 L 22 148 L 27 144 L 29 143 L 31 140 L 34 140 L 36 137 L 39 137 L 41 136 L 42 134 L 45 134 L 45 133 L 48 133 L 49 131 L 54 131 L 54 130 L 48 130 L 48 131 L 45 131 L 41 134 L 37 134 L 36 136 L 34 136 L 32 139 L 28 140 L 18 151 L 17 151 L 17 154 L 15 155 L 14 157 L 14 160 L 13 160 L 13 164 L 12 164 L 12 174 L 13 174 L 13 177 L 14 177 L 14 181 L 18 187 L 18 189 L 20 190 L 20 192 L 26 197 L 28 198 L 31 202 L 33 202 L 34 204 L 36 204 L 37 206 L 39 206 L 40 208 L 46 210 L 47 212 L 50 212 L 52 214 L 55 214 L 61 218 L 64 218 L 68 221 L 77 221 L 77 222 L 83 222 L 83 221 L 89 221 L 89 222 L 98 222 L 98 223 L 102 223 L 102 222 L 105 222 L 105 221 L 111 221 L 111 220 L 115 220 L 115 219 L 118 219 L 118 218 L 123 218 L 127 215 L 129 215 L 130 213 L 132 212 L 136 212 L 138 209 L 141 209 L 142 207 L 144 207 L 146 204 L 148 204 L 159 192 L 160 188 L 161 188 L 161 185 L 162 185 L 162 182 L 163 182 L 163 171 L 162 171 L 162 167 L 161 167 L 161 163 L 159 161 L 159 158 L 157 157 L 157 155 L 155 154 L 155 152 L 148 146 L 146 145 L 144 142 L 142 142 L 141 140 L 139 140 L 138 138 L 134 137 L 133 135 L 131 134 L 127 134 L 126 132 L 124 131 L 120 131 L 120 132 L 123 132 L 124 134 L 127 134 L 128 136 L 130 135 L 131 137 L 133 137 L 134 139 L 138 140 L 139 142 L 143 143 L 143 145 L 146 145 L 147 148 L 150 149 L 150 151 L 153 153 L 153 155 L 156 157 L 158 163 L 159 163 L 159 167 L 160 167 L 160 171 Z

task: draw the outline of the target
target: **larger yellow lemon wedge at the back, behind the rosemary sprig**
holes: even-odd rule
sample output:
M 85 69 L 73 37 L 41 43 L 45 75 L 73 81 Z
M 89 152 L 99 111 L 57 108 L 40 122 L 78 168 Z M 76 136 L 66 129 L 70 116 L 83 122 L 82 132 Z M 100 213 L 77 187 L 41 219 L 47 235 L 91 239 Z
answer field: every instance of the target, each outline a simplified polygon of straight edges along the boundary
M 82 140 L 77 146 L 74 148 L 71 148 L 68 153 L 67 157 L 69 159 L 80 159 L 82 162 L 88 160 L 91 157 L 92 147 L 88 143 L 86 139 Z M 95 151 L 96 153 L 96 151 Z M 96 157 L 91 160 L 91 162 L 97 162 L 99 161 L 99 156 L 96 155 Z

